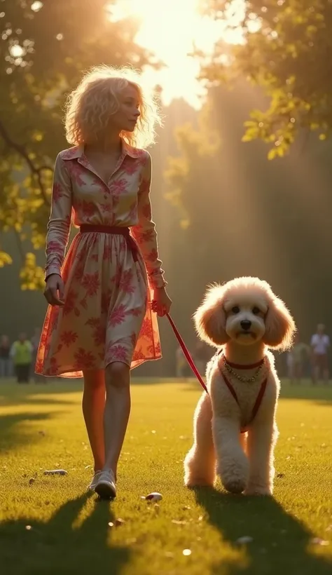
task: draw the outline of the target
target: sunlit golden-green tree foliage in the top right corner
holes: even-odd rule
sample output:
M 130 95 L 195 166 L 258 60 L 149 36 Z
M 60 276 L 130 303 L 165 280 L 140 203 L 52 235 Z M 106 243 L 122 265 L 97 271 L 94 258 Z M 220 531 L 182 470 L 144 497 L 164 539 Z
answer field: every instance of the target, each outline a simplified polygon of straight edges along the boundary
M 217 43 L 202 77 L 217 84 L 244 77 L 269 98 L 265 109 L 251 111 L 244 141 L 272 144 L 274 158 L 303 130 L 325 140 L 332 129 L 332 0 L 244 0 L 243 10 L 238 0 L 204 4 L 212 17 L 242 29 L 242 42 Z

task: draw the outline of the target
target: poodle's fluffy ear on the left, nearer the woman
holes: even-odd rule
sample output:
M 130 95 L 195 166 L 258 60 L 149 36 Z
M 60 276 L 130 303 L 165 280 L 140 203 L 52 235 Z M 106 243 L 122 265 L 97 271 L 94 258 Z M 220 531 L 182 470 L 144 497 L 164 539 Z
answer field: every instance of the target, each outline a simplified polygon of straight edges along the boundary
M 200 339 L 212 346 L 223 346 L 229 339 L 226 333 L 226 313 L 223 309 L 224 294 L 222 285 L 209 288 L 204 302 L 194 315 Z

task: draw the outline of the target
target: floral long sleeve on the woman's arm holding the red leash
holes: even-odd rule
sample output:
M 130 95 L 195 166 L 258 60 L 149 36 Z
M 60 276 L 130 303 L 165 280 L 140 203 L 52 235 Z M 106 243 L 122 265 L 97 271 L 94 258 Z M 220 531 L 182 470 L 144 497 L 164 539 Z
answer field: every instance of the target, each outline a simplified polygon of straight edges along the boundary
M 163 288 L 166 282 L 164 271 L 161 268 L 162 262 L 158 255 L 157 232 L 151 216 L 151 156 L 148 152 L 146 154 L 146 165 L 144 166 L 138 193 L 139 223 L 136 226 L 132 226 L 132 236 L 137 241 L 144 258 L 151 288 Z

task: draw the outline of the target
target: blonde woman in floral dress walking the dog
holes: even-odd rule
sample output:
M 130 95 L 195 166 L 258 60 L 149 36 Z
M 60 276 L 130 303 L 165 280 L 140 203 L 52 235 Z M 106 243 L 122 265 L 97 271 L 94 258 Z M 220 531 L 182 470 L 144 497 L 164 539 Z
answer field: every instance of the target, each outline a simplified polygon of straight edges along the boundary
M 161 357 L 155 312 L 164 316 L 172 303 L 151 219 L 151 157 L 139 148 L 153 143 L 155 121 L 153 98 L 137 74 L 92 69 L 69 96 L 66 131 L 74 147 L 55 163 L 46 238 L 50 306 L 36 372 L 83 374 L 95 462 L 89 487 L 104 499 L 116 496 L 130 368 Z M 71 215 L 80 233 L 62 265 Z

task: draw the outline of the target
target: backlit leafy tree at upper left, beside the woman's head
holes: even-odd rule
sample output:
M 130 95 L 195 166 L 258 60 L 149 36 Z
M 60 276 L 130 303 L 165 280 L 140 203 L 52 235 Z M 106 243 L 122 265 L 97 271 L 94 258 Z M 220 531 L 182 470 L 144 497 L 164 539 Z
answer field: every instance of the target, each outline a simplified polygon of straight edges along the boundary
M 134 43 L 133 20 L 111 18 L 113 1 L 0 2 L 0 231 L 23 241 L 22 287 L 41 285 L 34 250 L 45 243 L 53 161 L 65 147 L 62 106 L 92 65 L 156 65 Z M 0 266 L 11 258 L 0 251 Z

